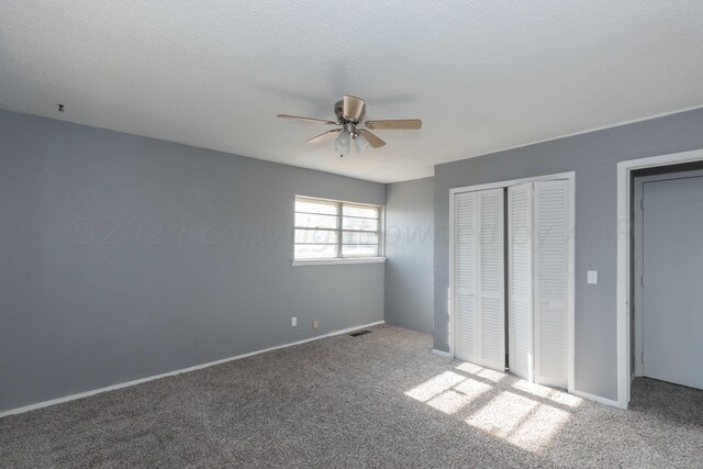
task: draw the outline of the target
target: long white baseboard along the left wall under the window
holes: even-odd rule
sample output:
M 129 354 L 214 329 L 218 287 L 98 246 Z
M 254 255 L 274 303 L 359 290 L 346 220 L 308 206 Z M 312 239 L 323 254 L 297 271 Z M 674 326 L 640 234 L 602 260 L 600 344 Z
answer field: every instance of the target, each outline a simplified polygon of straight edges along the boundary
M 8 416 L 8 415 L 15 415 L 15 414 L 21 414 L 21 413 L 24 413 L 24 412 L 33 411 L 35 409 L 42 409 L 42 407 L 47 407 L 49 405 L 60 404 L 63 402 L 75 401 L 77 399 L 87 398 L 89 395 L 100 394 L 101 392 L 114 391 L 116 389 L 129 388 L 131 386 L 142 384 L 143 382 L 153 381 L 155 379 L 166 378 L 166 377 L 169 377 L 169 376 L 175 376 L 175 375 L 180 375 L 180 373 L 187 373 L 189 371 L 201 370 L 203 368 L 213 367 L 215 365 L 226 364 L 227 361 L 239 360 L 242 358 L 252 357 L 254 355 L 265 354 L 265 353 L 271 351 L 271 350 L 278 350 L 279 348 L 293 347 L 295 345 L 305 344 L 305 343 L 312 342 L 312 340 L 319 340 L 319 339 L 325 338 L 325 337 L 332 337 L 332 336 L 335 336 L 335 335 L 348 334 L 348 333 L 354 332 L 354 331 L 359 331 L 359 330 L 362 330 L 362 328 L 366 328 L 366 327 L 371 327 L 371 326 L 378 326 L 378 325 L 381 325 L 381 324 L 386 324 L 386 321 L 377 321 L 377 322 L 373 322 L 373 323 L 370 323 L 370 324 L 364 324 L 364 325 L 359 325 L 359 326 L 347 327 L 347 328 L 342 330 L 342 331 L 331 332 L 328 334 L 319 335 L 316 337 L 310 337 L 310 338 L 305 338 L 305 339 L 298 340 L 298 342 L 292 342 L 290 344 L 277 345 L 276 347 L 269 347 L 269 348 L 265 348 L 263 350 L 249 351 L 248 354 L 237 355 L 236 357 L 223 358 L 221 360 L 210 361 L 210 362 L 202 364 L 202 365 L 196 365 L 193 367 L 183 368 L 183 369 L 180 369 L 180 370 L 168 371 L 168 372 L 165 372 L 165 373 L 161 373 L 161 375 L 155 375 L 155 376 L 150 376 L 150 377 L 146 377 L 146 378 L 135 379 L 134 381 L 121 382 L 119 384 L 112 384 L 112 386 L 108 386 L 105 388 L 93 389 L 93 390 L 90 390 L 90 391 L 80 392 L 78 394 L 65 395 L 63 398 L 56 398 L 56 399 L 52 399 L 52 400 L 48 400 L 48 401 L 37 402 L 36 404 L 30 404 L 30 405 L 24 405 L 22 407 L 10 409 L 9 411 L 0 412 L 0 418 L 2 418 L 4 416 Z

